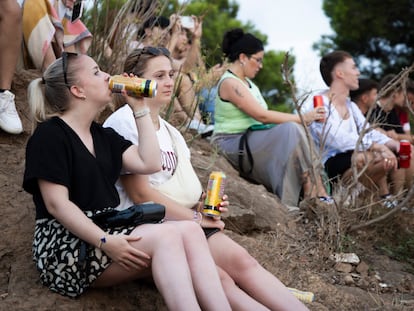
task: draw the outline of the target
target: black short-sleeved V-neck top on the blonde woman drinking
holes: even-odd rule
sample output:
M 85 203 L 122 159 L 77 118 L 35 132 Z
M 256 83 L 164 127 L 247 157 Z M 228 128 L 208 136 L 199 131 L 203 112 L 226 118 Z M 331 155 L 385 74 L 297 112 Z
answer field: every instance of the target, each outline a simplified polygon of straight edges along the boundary
M 115 182 L 122 168 L 122 154 L 132 143 L 95 122 L 90 130 L 96 157 L 58 117 L 39 124 L 30 137 L 23 188 L 33 195 L 36 219 L 52 218 L 41 196 L 39 179 L 65 186 L 69 199 L 82 210 L 119 205 Z

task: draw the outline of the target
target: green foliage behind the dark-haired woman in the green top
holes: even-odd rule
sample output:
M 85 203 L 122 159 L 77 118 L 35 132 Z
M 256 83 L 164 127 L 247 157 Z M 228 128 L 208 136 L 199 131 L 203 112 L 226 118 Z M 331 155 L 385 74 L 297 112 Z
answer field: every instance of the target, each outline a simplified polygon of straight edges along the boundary
M 154 3 L 156 4 L 154 5 Z M 267 36 L 259 32 L 254 24 L 251 22 L 242 23 L 237 19 L 239 5 L 234 0 L 191 0 L 186 2 L 178 0 L 169 0 L 168 2 L 151 0 L 94 0 L 93 5 L 85 12 L 83 20 L 94 34 L 91 55 L 97 59 L 103 69 L 109 72 L 119 70 L 119 65 L 113 63 L 123 59 L 123 54 L 120 52 L 117 59 L 113 56 L 108 61 L 102 55 L 106 49 L 103 42 L 107 41 L 111 27 L 116 23 L 115 17 L 125 4 L 141 11 L 144 10 L 142 7 L 151 6 L 151 9 L 148 10 L 151 12 L 148 15 L 170 16 L 175 13 L 178 15 L 196 15 L 202 17 L 203 36 L 201 48 L 205 64 L 208 68 L 224 61 L 221 51 L 221 40 L 224 33 L 229 29 L 240 27 L 260 38 L 265 46 L 267 44 Z M 144 19 L 145 16 L 143 13 L 136 15 L 135 22 L 139 24 L 140 20 Z M 122 49 L 124 45 L 118 42 L 117 49 Z M 291 111 L 290 106 L 285 104 L 291 102 L 291 96 L 289 88 L 284 84 L 280 70 L 283 59 L 284 52 L 266 51 L 263 69 L 256 77 L 255 83 L 263 91 L 263 95 L 271 109 Z M 292 68 L 294 62 L 294 57 L 291 57 L 289 65 Z

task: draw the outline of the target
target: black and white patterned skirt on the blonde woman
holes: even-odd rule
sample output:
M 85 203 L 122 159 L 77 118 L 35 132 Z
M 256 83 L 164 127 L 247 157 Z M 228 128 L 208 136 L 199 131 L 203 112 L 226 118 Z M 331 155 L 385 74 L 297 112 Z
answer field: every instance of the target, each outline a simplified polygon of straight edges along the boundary
M 108 233 L 130 234 L 134 228 L 116 228 Z M 80 240 L 56 219 L 36 220 L 33 260 L 41 282 L 69 297 L 82 294 L 111 264 L 103 251 Z

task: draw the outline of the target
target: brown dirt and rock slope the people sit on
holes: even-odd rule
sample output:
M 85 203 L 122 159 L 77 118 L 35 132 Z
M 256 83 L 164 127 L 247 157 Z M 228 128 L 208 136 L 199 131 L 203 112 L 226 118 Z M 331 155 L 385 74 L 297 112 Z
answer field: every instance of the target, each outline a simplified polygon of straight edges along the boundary
M 78 299 L 51 293 L 39 283 L 31 259 L 34 206 L 21 187 L 31 131 L 26 87 L 37 75 L 23 71 L 14 81 L 25 132 L 18 136 L 0 132 L 0 310 L 165 310 L 150 281 L 89 290 Z M 346 222 L 342 206 L 327 210 L 310 202 L 300 214 L 291 215 L 263 187 L 241 179 L 206 140 L 189 143 L 204 184 L 212 170 L 228 176 L 228 234 L 286 285 L 312 291 L 315 301 L 307 304 L 310 310 L 414 310 L 414 254 L 411 260 L 397 261 L 382 247 L 413 236 L 414 214 L 397 213 L 348 233 L 341 225 Z M 335 252 L 352 252 L 361 262 L 336 263 Z

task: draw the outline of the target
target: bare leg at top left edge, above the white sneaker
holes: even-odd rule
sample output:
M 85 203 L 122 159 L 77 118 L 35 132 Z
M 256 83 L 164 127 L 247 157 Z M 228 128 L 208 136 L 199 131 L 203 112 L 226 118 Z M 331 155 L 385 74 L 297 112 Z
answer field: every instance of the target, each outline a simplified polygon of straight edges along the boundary
M 0 1 L 0 89 L 10 90 L 22 42 L 22 10 L 16 0 Z

